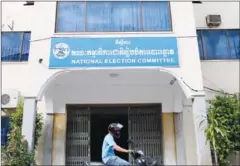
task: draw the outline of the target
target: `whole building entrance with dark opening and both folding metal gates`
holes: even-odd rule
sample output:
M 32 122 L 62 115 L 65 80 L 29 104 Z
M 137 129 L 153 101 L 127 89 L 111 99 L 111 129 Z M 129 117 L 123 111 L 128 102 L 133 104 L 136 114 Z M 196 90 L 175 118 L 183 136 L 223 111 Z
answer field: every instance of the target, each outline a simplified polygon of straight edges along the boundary
M 121 138 L 115 139 L 123 148 L 133 140 L 146 156 L 162 158 L 161 105 L 93 105 L 67 107 L 66 164 L 85 165 L 102 162 L 101 150 L 110 123 L 124 125 Z M 127 154 L 116 154 L 130 162 Z

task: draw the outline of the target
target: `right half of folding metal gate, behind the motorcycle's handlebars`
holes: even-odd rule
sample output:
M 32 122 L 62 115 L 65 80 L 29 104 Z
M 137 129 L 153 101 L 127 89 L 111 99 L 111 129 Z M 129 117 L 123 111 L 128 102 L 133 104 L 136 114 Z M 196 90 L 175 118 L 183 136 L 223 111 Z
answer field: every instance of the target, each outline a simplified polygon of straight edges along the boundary
M 129 107 L 129 139 L 162 163 L 161 107 Z M 131 161 L 132 162 L 132 161 Z

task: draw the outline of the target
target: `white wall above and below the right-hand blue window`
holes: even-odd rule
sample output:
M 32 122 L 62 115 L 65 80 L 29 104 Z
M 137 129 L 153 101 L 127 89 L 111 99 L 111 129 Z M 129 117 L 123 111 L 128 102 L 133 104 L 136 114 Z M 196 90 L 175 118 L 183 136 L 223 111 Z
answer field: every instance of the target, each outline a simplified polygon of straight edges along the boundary
M 240 29 L 240 2 L 202 2 L 193 6 L 197 29 L 209 29 L 205 21 L 208 14 L 221 15 L 222 24 L 214 29 Z M 228 93 L 239 92 L 239 65 L 239 60 L 201 61 L 204 85 Z M 207 91 L 208 98 L 214 94 Z

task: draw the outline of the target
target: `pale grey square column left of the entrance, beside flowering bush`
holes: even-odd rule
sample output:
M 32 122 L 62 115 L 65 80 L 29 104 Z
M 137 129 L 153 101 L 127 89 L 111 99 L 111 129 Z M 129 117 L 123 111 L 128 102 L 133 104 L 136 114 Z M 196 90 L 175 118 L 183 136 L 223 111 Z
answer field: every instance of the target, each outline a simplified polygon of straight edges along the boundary
M 36 97 L 24 97 L 22 135 L 28 141 L 29 151 L 32 151 L 34 149 L 36 113 Z

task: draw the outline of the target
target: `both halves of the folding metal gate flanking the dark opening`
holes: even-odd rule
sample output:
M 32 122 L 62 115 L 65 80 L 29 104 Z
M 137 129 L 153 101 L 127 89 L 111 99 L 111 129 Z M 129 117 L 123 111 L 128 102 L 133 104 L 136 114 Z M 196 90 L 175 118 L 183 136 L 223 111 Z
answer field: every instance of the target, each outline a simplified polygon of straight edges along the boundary
M 90 164 L 90 108 L 72 106 L 67 110 L 66 165 Z M 160 105 L 128 107 L 128 120 L 129 139 L 145 156 L 157 158 L 162 164 Z

